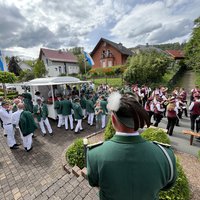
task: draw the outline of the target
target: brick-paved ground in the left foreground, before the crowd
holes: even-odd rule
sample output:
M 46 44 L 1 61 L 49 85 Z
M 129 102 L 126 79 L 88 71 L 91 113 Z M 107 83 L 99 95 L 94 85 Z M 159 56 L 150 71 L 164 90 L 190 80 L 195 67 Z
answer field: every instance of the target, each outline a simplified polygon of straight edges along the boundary
M 66 174 L 61 162 L 61 154 L 66 147 L 77 137 L 93 133 L 95 127 L 88 129 L 84 123 L 85 130 L 77 136 L 64 128 L 58 129 L 54 121 L 51 123 L 54 136 L 42 137 L 37 130 L 37 137 L 33 139 L 34 148 L 28 153 L 22 146 L 18 150 L 10 150 L 0 130 L 1 200 L 96 198 L 96 190 L 89 187 L 86 180 L 77 180 L 73 175 Z M 17 139 L 21 142 L 19 137 Z

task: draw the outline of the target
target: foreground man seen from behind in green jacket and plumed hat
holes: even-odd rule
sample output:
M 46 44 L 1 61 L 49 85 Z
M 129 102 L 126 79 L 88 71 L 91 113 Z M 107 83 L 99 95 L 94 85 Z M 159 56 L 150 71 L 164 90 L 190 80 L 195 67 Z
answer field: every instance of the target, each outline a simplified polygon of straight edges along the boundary
M 117 92 L 108 98 L 116 133 L 87 153 L 89 184 L 99 187 L 101 200 L 156 200 L 160 190 L 176 181 L 176 159 L 167 145 L 143 139 L 139 128 L 149 116 L 132 95 Z

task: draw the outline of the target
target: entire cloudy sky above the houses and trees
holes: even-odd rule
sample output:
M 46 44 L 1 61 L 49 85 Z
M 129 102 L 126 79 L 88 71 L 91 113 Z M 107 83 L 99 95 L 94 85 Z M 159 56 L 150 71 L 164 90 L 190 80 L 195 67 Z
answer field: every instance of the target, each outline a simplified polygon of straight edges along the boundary
M 185 42 L 200 0 L 0 0 L 0 49 L 37 58 L 40 47 L 82 46 L 104 37 L 126 47 Z

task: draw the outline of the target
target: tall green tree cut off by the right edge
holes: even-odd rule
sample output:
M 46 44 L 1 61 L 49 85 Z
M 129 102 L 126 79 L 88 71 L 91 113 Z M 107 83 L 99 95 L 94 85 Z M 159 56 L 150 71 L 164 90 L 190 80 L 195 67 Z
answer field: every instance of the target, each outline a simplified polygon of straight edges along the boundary
M 195 71 L 200 69 L 200 17 L 194 20 L 192 37 L 185 47 L 185 63 Z

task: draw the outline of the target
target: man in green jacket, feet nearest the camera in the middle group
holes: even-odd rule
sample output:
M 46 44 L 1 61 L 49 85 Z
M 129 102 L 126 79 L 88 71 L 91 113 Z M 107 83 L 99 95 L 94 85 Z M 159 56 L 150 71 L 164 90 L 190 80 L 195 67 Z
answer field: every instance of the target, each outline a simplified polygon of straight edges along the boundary
M 80 99 L 78 97 L 74 99 L 73 109 L 74 109 L 74 119 L 77 120 L 74 132 L 79 133 L 79 131 L 83 130 L 82 127 L 83 111 L 80 105 Z

